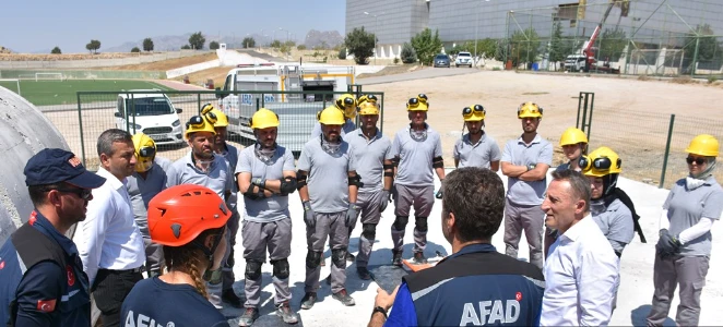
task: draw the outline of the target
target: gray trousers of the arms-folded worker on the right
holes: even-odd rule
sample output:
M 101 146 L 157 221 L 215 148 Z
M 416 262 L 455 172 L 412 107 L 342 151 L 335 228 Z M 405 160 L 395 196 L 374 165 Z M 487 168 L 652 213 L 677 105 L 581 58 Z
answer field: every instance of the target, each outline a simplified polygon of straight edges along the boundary
M 545 211 L 538 205 L 505 203 L 505 254 L 517 258 L 522 230 L 530 247 L 530 263 L 543 268 L 543 231 Z

